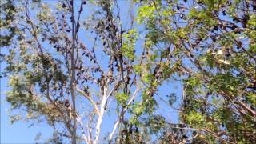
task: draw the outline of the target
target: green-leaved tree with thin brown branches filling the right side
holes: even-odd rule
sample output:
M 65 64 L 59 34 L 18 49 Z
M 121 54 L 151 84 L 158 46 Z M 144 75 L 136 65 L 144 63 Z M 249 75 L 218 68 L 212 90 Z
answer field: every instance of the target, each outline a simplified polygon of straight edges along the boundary
M 180 122 L 192 137 L 187 140 L 254 143 L 255 2 L 140 4 L 138 22 L 146 25 L 151 50 L 157 51 L 154 63 L 176 62 L 173 76 L 183 83 Z

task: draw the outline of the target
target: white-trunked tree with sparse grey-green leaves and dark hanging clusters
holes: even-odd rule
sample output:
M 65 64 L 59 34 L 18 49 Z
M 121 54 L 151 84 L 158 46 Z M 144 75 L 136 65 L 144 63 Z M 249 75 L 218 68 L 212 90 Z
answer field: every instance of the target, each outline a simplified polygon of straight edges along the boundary
M 112 139 L 142 87 L 132 66 L 136 30 L 122 30 L 118 3 L 26 0 L 1 7 L 2 31 L 15 30 L 1 36 L 12 87 L 6 100 L 23 112 L 11 121 L 47 122 L 60 142 L 98 143 L 104 114 L 116 106 Z

